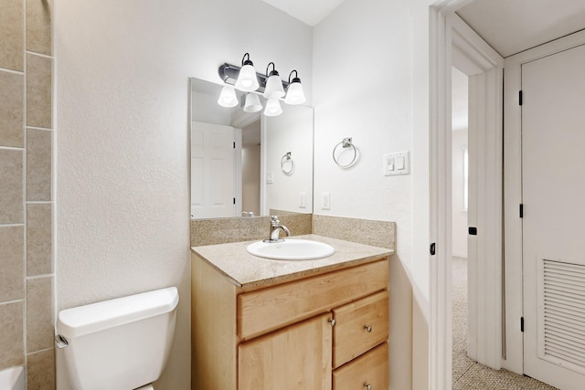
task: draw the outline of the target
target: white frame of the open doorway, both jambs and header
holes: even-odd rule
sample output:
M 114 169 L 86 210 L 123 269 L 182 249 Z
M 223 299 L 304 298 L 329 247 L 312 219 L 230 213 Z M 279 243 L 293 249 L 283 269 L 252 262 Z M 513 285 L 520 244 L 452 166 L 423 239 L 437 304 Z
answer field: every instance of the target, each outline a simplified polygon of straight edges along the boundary
M 502 364 L 502 80 L 504 59 L 446 9 L 431 7 L 431 388 L 452 388 L 452 65 L 469 77 L 468 354 L 496 370 Z M 445 14 L 442 14 L 445 12 Z M 448 15 L 448 16 L 445 16 Z M 449 100 L 445 101 L 443 97 Z M 473 129 L 473 132 L 472 132 Z M 473 178 L 473 182 L 471 179 Z M 444 185 L 448 184 L 448 185 Z M 474 202 L 474 203 L 473 203 Z M 468 237 L 469 238 L 469 237 Z M 431 251 L 431 255 L 433 255 Z M 472 258 L 474 259 L 472 261 Z M 442 313 L 448 313 L 445 318 Z M 446 369 L 448 368 L 448 369 Z

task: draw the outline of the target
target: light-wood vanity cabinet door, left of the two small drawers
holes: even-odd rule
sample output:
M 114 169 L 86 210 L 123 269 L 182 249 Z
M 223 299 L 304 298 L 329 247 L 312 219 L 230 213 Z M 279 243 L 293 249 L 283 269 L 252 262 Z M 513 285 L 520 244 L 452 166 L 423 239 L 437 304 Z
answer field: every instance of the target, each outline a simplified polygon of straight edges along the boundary
M 331 390 L 330 313 L 239 344 L 239 390 Z

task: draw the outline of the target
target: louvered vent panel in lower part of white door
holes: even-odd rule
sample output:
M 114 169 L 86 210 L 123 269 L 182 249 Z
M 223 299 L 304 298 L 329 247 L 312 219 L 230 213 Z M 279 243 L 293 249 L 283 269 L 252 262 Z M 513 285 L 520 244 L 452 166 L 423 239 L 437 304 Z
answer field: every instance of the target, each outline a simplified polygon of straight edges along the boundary
M 541 357 L 585 373 L 585 266 L 543 260 Z

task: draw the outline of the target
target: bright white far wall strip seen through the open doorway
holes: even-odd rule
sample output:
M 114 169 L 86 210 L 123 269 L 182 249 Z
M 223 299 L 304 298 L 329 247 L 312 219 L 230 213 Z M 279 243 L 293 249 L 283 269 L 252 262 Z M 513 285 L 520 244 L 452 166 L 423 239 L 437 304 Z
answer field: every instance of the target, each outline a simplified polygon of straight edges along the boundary
M 467 258 L 467 210 L 463 202 L 463 150 L 467 148 L 467 129 L 452 132 L 452 253 Z

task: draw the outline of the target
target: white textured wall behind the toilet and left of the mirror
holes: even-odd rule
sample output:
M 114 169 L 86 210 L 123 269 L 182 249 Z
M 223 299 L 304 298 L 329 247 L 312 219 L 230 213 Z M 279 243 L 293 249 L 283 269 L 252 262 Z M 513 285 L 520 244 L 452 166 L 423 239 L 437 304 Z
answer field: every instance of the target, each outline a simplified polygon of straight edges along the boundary
M 160 390 L 190 388 L 188 78 L 250 52 L 312 83 L 312 29 L 260 0 L 58 0 L 58 309 L 179 287 Z M 310 99 L 311 90 L 307 89 Z M 59 390 L 64 366 L 58 361 Z

